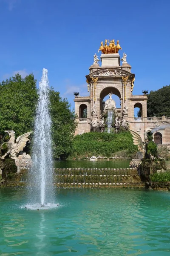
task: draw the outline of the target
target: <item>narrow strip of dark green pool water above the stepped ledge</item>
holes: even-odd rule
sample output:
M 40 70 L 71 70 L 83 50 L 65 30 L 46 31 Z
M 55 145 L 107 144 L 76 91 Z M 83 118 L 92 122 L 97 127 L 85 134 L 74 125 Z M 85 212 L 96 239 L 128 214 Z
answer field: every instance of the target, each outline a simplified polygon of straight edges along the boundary
M 55 161 L 55 168 L 128 168 L 130 160 L 66 160 Z

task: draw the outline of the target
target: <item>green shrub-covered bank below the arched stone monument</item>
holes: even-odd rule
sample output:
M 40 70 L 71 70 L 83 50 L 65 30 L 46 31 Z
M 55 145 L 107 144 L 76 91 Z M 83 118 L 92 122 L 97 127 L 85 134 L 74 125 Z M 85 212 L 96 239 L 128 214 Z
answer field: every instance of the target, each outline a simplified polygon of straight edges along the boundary
M 79 158 L 92 155 L 111 157 L 118 151 L 125 152 L 125 150 L 127 156 L 137 151 L 137 146 L 133 145 L 132 135 L 129 131 L 119 134 L 90 132 L 74 137 L 70 157 Z

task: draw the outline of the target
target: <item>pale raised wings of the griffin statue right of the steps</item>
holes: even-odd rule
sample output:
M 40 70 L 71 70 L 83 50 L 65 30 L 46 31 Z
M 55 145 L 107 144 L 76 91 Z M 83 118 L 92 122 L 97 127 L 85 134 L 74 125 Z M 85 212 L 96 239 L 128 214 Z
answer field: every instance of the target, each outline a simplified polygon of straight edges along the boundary
M 138 146 L 138 150 L 142 153 L 142 158 L 144 158 L 145 154 L 146 154 L 146 145 L 148 143 L 147 134 L 148 134 L 148 132 L 150 132 L 152 130 L 149 128 L 144 130 L 144 141 L 142 140 L 141 136 L 136 131 L 133 131 L 130 129 L 129 129 L 129 131 L 133 136 L 133 144 Z

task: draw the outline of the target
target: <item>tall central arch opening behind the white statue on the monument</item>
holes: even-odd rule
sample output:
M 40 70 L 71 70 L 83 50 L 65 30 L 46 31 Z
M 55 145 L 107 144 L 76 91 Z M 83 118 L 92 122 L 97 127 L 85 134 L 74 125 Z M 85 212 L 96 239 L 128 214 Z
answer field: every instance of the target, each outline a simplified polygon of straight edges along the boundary
M 109 93 L 113 93 L 112 99 L 114 99 L 116 101 L 116 103 L 119 104 L 120 102 L 120 98 L 121 98 L 121 94 L 119 92 L 118 89 L 116 89 L 115 87 L 106 87 L 105 89 L 103 89 L 100 93 L 100 114 L 103 113 L 103 109 L 104 109 L 104 102 L 103 99 L 108 96 Z M 115 98 L 114 95 L 116 95 L 117 97 Z M 119 104 L 116 104 L 116 108 L 120 108 Z

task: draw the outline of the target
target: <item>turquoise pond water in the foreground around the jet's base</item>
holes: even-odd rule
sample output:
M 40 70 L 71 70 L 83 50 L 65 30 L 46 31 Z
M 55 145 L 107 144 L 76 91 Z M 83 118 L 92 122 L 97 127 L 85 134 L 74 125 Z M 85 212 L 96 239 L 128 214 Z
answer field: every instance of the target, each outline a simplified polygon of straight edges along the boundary
M 56 189 L 56 203 L 28 210 L 25 188 L 1 188 L 0 255 L 170 255 L 170 192 Z

